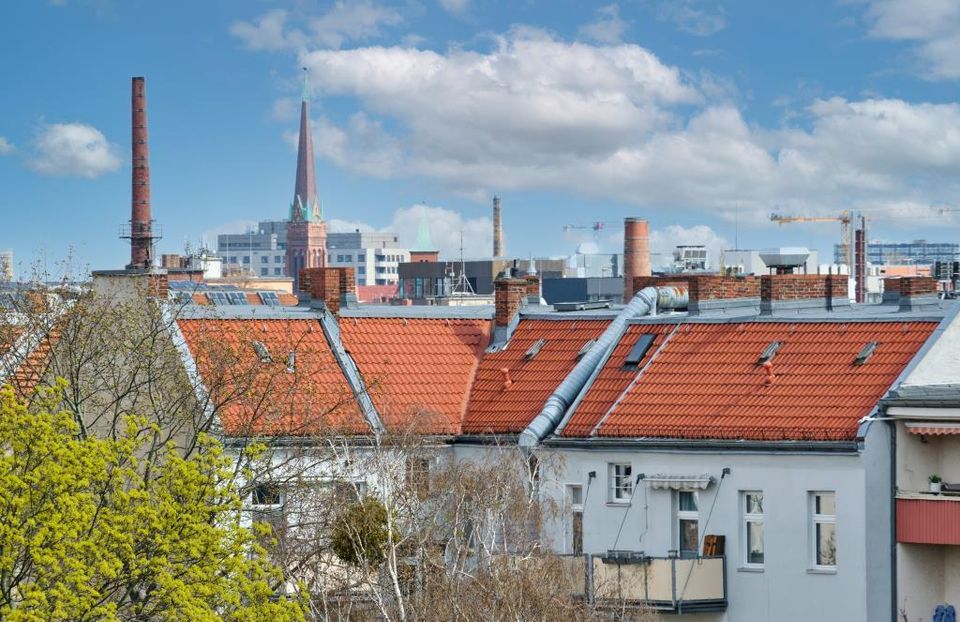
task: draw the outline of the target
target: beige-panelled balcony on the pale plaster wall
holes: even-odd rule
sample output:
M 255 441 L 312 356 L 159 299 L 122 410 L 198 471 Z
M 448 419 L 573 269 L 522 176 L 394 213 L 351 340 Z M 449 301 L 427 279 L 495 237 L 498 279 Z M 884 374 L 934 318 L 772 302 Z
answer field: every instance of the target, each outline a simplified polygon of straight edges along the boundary
M 580 594 L 585 591 L 588 598 L 592 595 L 600 609 L 626 607 L 696 613 L 727 608 L 726 564 L 722 556 L 679 559 L 622 551 L 568 557 L 565 564 L 572 590 Z

